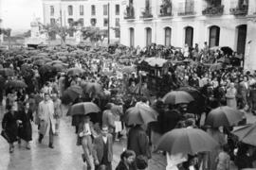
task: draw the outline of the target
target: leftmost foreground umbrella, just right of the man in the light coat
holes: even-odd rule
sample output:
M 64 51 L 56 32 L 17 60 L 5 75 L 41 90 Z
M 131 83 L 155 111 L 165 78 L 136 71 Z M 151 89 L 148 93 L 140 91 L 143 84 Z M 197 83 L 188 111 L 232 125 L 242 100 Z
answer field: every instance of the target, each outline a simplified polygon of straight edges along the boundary
M 93 102 L 83 102 L 73 105 L 70 110 L 67 111 L 67 115 L 86 115 L 100 111 L 100 108 Z

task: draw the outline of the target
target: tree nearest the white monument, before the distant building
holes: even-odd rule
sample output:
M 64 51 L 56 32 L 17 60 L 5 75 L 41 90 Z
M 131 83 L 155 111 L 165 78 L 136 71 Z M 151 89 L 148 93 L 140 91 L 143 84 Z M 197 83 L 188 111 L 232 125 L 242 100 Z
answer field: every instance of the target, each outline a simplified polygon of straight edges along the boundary
M 56 34 L 61 38 L 62 47 L 65 47 L 66 36 L 76 31 L 75 26 L 60 26 L 59 24 L 43 26 L 44 30 L 48 34 L 48 37 L 53 38 Z

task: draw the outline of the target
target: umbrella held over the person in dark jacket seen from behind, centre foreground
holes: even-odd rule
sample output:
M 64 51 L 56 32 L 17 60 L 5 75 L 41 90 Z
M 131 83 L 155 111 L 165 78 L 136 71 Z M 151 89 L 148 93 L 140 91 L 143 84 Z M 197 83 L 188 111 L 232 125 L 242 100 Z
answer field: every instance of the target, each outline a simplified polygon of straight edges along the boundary
M 127 125 L 143 125 L 157 120 L 157 112 L 149 106 L 138 105 L 126 110 L 124 121 Z

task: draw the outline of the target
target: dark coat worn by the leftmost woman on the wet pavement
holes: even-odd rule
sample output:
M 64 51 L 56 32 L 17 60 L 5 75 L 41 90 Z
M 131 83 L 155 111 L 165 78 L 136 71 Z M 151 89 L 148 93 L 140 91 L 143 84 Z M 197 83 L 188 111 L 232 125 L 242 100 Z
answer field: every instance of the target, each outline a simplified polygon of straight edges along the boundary
M 18 135 L 18 125 L 17 125 L 17 112 L 14 112 L 14 115 L 12 115 L 10 112 L 7 112 L 4 115 L 3 121 L 2 121 L 2 127 L 6 131 L 6 134 L 9 137 L 9 143 L 14 143 L 17 141 L 17 135 Z

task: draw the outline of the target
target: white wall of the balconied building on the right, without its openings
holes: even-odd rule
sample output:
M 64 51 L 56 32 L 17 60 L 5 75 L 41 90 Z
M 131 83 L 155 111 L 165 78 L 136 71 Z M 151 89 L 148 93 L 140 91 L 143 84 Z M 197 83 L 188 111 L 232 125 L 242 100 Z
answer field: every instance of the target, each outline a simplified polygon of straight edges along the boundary
M 129 0 L 126 1 L 122 7 L 125 11 L 126 5 Z M 204 16 L 202 10 L 206 7 L 205 0 L 194 0 L 194 7 L 196 14 L 194 16 L 178 16 L 179 4 L 185 2 L 185 0 L 173 0 L 173 16 L 172 17 L 158 17 L 159 7 L 161 1 L 152 0 L 153 18 L 149 21 L 145 21 L 139 18 L 141 15 L 141 8 L 144 7 L 145 1 L 134 1 L 134 8 L 136 10 L 135 20 L 123 20 L 121 22 L 121 38 L 120 42 L 129 45 L 129 28 L 135 28 L 135 45 L 141 47 L 145 46 L 145 27 L 151 26 L 153 32 L 152 42 L 159 44 L 164 43 L 164 27 L 169 26 L 172 28 L 172 45 L 183 47 L 185 43 L 185 27 L 193 27 L 193 43 L 209 42 L 209 27 L 219 26 L 220 27 L 220 46 L 230 46 L 232 49 L 236 49 L 236 26 L 247 25 L 247 16 L 235 17 L 229 12 L 229 8 L 232 8 L 236 2 L 235 0 L 223 0 L 222 5 L 225 6 L 224 13 L 220 16 Z M 255 0 L 249 0 L 248 14 L 255 11 L 256 8 Z M 139 36 L 137 36 L 139 35 Z M 155 39 L 157 37 L 157 39 Z

